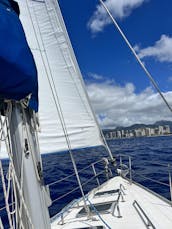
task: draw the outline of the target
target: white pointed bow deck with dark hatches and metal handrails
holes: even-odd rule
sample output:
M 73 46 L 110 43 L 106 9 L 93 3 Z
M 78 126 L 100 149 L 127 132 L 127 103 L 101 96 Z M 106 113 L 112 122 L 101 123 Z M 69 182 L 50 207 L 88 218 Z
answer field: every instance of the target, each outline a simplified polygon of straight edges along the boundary
M 53 217 L 51 228 L 172 228 L 172 207 L 168 201 L 119 176 L 92 190 L 87 203 L 89 217 L 80 200 L 63 215 Z

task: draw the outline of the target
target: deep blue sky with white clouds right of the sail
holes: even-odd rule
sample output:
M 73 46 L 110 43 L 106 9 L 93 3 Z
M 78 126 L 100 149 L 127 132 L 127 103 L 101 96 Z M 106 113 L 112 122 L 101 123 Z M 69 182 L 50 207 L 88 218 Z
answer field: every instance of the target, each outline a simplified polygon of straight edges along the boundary
M 172 1 L 106 0 L 131 44 L 172 104 Z M 59 0 L 103 127 L 171 119 L 98 0 Z

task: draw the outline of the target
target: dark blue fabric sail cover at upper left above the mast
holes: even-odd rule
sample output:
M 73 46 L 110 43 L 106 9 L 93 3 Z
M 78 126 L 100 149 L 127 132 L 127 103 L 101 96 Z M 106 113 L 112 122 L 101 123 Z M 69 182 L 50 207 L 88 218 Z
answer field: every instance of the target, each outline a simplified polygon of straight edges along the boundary
M 0 98 L 21 100 L 38 111 L 36 65 L 20 20 L 8 0 L 0 0 Z

